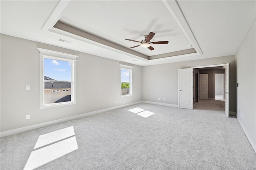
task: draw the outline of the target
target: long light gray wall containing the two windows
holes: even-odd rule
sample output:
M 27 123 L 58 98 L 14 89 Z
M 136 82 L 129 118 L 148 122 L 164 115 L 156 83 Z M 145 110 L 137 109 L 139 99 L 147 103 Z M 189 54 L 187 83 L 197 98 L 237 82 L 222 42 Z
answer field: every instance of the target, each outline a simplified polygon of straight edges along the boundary
M 40 109 L 37 47 L 79 54 L 76 105 Z M 119 61 L 1 34 L 1 132 L 142 101 L 141 66 L 134 66 L 132 79 L 133 96 L 121 98 Z

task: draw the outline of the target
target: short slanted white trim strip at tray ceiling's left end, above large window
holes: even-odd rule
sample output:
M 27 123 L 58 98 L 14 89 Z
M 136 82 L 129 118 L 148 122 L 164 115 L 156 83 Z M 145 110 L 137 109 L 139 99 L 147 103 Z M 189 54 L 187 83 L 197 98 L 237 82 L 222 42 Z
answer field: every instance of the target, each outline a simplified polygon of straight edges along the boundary
M 56 8 L 52 11 L 52 14 L 49 16 L 48 20 L 44 23 L 42 30 L 49 30 L 58 22 L 58 20 L 64 14 L 64 11 L 67 9 L 71 0 L 60 0 Z

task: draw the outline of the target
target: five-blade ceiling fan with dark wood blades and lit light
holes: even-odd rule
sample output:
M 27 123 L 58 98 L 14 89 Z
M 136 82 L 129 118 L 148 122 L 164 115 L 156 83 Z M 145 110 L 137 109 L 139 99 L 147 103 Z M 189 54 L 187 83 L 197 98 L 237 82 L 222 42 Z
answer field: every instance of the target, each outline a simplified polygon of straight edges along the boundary
M 145 39 L 140 41 L 140 42 L 136 41 L 136 40 L 130 40 L 130 39 L 125 39 L 125 40 L 132 41 L 132 42 L 138 42 L 138 43 L 140 43 L 140 45 L 136 45 L 134 47 L 141 46 L 141 47 L 144 47 L 144 48 L 148 48 L 151 51 L 154 50 L 154 48 L 151 46 L 151 44 L 166 44 L 166 43 L 169 43 L 169 41 L 150 42 L 150 40 L 154 37 L 154 35 L 155 35 L 154 32 L 150 32 L 148 35 L 144 35 Z M 130 47 L 130 48 L 134 48 L 134 47 Z

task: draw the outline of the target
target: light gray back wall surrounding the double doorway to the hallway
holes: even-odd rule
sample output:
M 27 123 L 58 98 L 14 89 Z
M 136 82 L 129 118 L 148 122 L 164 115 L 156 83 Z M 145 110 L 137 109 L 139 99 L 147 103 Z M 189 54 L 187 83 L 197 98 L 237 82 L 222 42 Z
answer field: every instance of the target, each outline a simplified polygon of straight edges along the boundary
M 230 111 L 236 112 L 236 64 L 235 56 L 224 56 L 209 59 L 198 59 L 177 63 L 167 63 L 143 67 L 144 101 L 178 105 L 178 69 L 202 65 L 230 63 Z M 158 101 L 160 98 L 160 101 Z M 165 98 L 165 101 L 163 99 Z

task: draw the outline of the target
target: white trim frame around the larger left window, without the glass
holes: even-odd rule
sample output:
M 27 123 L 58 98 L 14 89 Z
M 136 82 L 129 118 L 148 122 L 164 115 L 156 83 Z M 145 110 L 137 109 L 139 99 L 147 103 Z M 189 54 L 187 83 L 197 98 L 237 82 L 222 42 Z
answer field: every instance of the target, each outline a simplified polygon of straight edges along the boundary
M 78 55 L 72 55 L 68 53 L 62 53 L 58 51 L 52 51 L 48 49 L 37 48 L 40 52 L 40 108 L 58 107 L 63 105 L 74 105 L 76 104 L 76 58 Z M 61 61 L 68 61 L 71 63 L 71 101 L 62 103 L 50 103 L 44 104 L 44 58 L 56 59 Z

